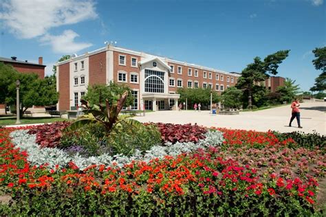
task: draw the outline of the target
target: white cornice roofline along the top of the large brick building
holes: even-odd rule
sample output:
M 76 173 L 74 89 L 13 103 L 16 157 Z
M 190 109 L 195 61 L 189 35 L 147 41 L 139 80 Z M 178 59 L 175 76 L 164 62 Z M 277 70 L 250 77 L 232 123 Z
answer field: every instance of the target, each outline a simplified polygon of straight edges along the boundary
M 230 76 L 235 76 L 235 77 L 240 77 L 241 75 L 237 75 L 237 74 L 234 74 L 234 73 L 230 73 L 230 72 L 227 72 L 227 71 L 222 71 L 222 70 L 219 70 L 219 69 L 213 69 L 213 68 L 209 68 L 209 67 L 204 67 L 204 66 L 201 66 L 201 65 L 196 65 L 196 64 L 193 64 L 193 63 L 187 63 L 187 62 L 182 62 L 182 61 L 179 61 L 179 60 L 173 60 L 172 58 L 167 58 L 167 57 L 164 57 L 164 56 L 158 56 L 158 55 L 153 55 L 153 54 L 148 54 L 148 53 L 144 53 L 144 52 L 135 52 L 131 49 L 126 49 L 126 48 L 122 48 L 122 47 L 114 47 L 113 45 L 107 45 L 106 47 L 101 47 L 100 49 L 96 49 L 92 52 L 86 52 L 85 54 L 81 54 L 79 56 L 76 56 L 76 57 L 71 57 L 70 59 L 68 60 L 64 60 L 62 62 L 56 62 L 56 66 L 58 65 L 63 65 L 67 62 L 72 62 L 72 61 L 76 61 L 78 59 L 81 59 L 81 58 L 85 58 L 87 56 L 91 56 L 91 55 L 94 55 L 94 54 L 98 54 L 98 53 L 101 53 L 101 52 L 106 52 L 106 51 L 114 51 L 114 52 L 122 52 L 122 53 L 126 53 L 126 54 L 131 54 L 131 55 L 136 55 L 136 56 L 141 56 L 141 57 L 146 57 L 146 56 L 155 56 L 157 58 L 160 58 L 166 62 L 173 62 L 175 64 L 182 64 L 182 65 L 186 65 L 186 66 L 189 66 L 189 67 L 194 67 L 194 68 L 198 68 L 198 69 L 203 69 L 203 70 L 207 70 L 207 71 L 213 71 L 215 73 L 224 73 L 224 74 L 227 74 L 227 75 L 230 75 Z

